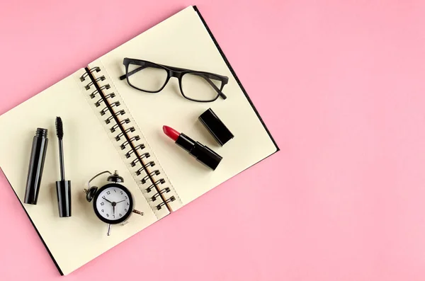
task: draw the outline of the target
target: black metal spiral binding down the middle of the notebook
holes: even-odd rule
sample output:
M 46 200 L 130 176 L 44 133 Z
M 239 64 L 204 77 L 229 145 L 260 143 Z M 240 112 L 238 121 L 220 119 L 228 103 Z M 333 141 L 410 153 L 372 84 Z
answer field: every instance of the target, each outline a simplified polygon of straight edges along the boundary
M 125 115 L 125 110 L 118 108 L 120 107 L 121 103 L 120 101 L 113 101 L 116 97 L 115 93 L 103 93 L 103 91 L 108 90 L 111 88 L 109 84 L 105 84 L 103 86 L 99 86 L 98 82 L 106 80 L 105 76 L 99 76 L 98 78 L 94 77 L 94 73 L 100 72 L 100 67 L 93 67 L 91 69 L 86 68 L 86 73 L 80 76 L 80 81 L 85 81 L 87 78 L 90 79 L 90 82 L 84 86 L 86 91 L 89 91 L 91 89 L 91 86 L 95 86 L 96 89 L 92 91 L 89 96 L 90 98 L 96 98 L 96 96 L 99 96 L 98 100 L 94 103 L 96 108 L 101 106 L 102 104 L 105 105 L 105 107 L 99 111 L 99 113 L 103 116 L 107 113 L 111 113 L 111 116 L 107 117 L 105 119 L 106 124 L 111 124 L 111 122 L 115 121 L 113 125 L 109 128 L 111 133 L 118 132 L 118 134 L 115 135 L 114 139 L 117 142 L 121 142 L 120 148 L 121 149 L 127 149 L 128 146 L 130 146 L 130 149 L 125 153 L 125 157 L 127 159 L 130 159 L 132 156 L 135 156 L 135 159 L 132 159 L 130 161 L 130 166 L 135 167 L 137 164 L 140 164 L 140 168 L 135 171 L 137 176 L 141 176 L 142 172 L 146 173 L 146 176 L 143 176 L 143 178 L 140 180 L 140 183 L 145 184 L 149 180 L 152 183 L 145 189 L 146 193 L 151 193 L 154 190 L 156 193 L 154 195 L 149 195 L 150 200 L 156 201 L 158 198 L 162 199 L 162 202 L 160 202 L 158 205 L 154 206 L 157 210 L 161 210 L 162 207 L 166 206 L 168 207 L 169 202 L 173 202 L 176 200 L 174 196 L 169 197 L 168 199 L 165 199 L 164 194 L 169 193 L 171 189 L 169 187 L 166 188 L 159 188 L 160 185 L 164 185 L 165 180 L 164 178 L 159 178 L 158 180 L 155 180 L 153 176 L 159 176 L 161 172 L 159 170 L 149 171 L 147 168 L 151 168 L 155 166 L 154 161 L 149 161 L 147 163 L 144 163 L 144 159 L 148 159 L 150 157 L 149 152 L 145 152 L 140 154 L 139 151 L 143 151 L 145 149 L 145 144 L 133 144 L 133 142 L 137 142 L 140 140 L 139 135 L 135 135 L 130 137 L 129 133 L 135 132 L 135 127 L 128 127 L 124 128 L 123 125 L 129 124 L 131 120 L 129 118 L 125 118 L 123 120 L 118 119 L 118 115 Z M 113 108 L 117 108 L 118 110 L 115 112 Z M 170 208 L 169 208 L 170 209 Z

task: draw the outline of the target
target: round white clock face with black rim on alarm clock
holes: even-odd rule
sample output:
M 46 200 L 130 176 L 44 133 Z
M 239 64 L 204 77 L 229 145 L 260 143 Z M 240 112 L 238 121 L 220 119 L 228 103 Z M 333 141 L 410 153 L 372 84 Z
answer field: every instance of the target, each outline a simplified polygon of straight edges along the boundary
M 107 224 L 124 222 L 132 212 L 130 191 L 118 183 L 109 183 L 99 188 L 94 196 L 94 212 Z

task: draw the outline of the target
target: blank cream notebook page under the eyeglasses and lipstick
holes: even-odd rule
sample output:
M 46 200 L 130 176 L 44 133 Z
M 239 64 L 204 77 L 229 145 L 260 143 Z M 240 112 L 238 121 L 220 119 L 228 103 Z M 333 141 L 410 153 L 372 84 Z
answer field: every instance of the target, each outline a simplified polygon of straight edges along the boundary
M 181 96 L 179 82 L 174 78 L 159 93 L 138 91 L 118 79 L 125 74 L 124 57 L 228 76 L 229 83 L 223 89 L 227 99 L 212 103 L 188 101 Z M 192 6 L 96 59 L 90 67 L 104 70 L 102 75 L 113 87 L 110 91 L 120 95 L 152 147 L 182 202 L 171 204 L 173 210 L 276 152 L 271 137 Z M 208 108 L 212 108 L 234 134 L 234 139 L 223 147 L 218 146 L 198 120 Z M 162 132 L 163 125 L 184 132 L 223 156 L 217 169 L 211 171 L 177 147 Z

